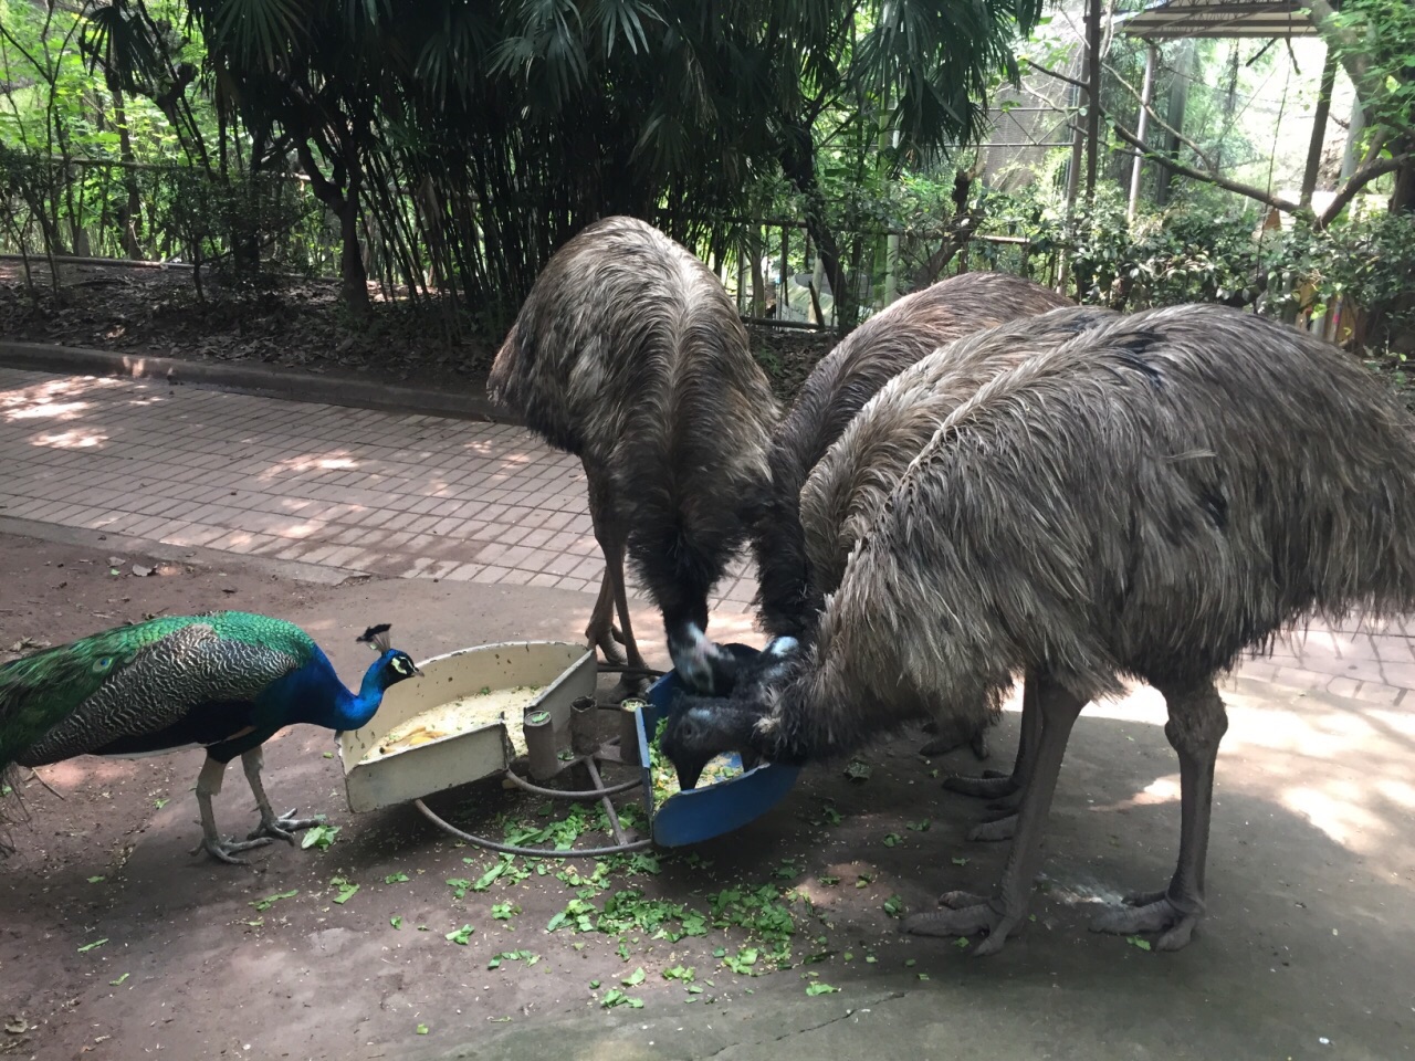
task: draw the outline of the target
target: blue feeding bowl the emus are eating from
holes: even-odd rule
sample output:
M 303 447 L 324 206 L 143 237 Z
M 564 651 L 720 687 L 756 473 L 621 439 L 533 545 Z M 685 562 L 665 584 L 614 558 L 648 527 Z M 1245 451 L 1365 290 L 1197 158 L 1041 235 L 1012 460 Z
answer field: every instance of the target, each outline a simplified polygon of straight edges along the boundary
M 750 645 L 723 645 L 723 648 L 744 662 L 761 655 L 761 649 Z M 658 720 L 668 712 L 679 689 L 682 680 L 674 671 L 654 682 L 648 690 L 648 703 L 638 712 L 637 723 L 638 758 L 644 770 L 644 806 L 652 822 L 654 843 L 662 847 L 681 847 L 685 843 L 698 843 L 740 829 L 781 802 L 801 772 L 799 767 L 768 763 L 730 781 L 675 792 L 655 806 L 648 743 L 658 729 Z M 741 767 L 741 758 L 736 753 L 732 761 L 736 767 Z

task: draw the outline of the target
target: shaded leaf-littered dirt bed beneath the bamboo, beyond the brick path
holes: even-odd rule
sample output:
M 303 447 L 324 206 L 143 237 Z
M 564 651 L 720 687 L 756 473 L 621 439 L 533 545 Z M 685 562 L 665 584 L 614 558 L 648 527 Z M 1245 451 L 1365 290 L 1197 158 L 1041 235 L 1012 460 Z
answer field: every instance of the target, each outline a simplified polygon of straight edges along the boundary
M 235 293 L 216 277 L 198 300 L 191 270 L 62 265 L 59 290 L 44 260 L 0 260 L 0 337 L 224 364 L 266 364 L 429 389 L 481 389 L 501 335 L 449 328 L 439 313 L 382 301 L 368 321 L 340 306 L 335 280 L 289 279 L 276 290 Z M 829 332 L 751 325 L 751 347 L 778 396 L 790 399 L 835 345 Z

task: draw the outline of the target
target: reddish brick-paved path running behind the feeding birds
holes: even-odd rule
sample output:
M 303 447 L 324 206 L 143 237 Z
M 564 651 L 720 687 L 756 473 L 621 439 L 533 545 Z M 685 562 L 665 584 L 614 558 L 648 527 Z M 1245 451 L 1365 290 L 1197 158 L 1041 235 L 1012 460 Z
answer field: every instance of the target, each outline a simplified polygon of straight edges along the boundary
M 0 368 L 0 515 L 375 574 L 599 590 L 579 461 L 519 427 Z M 754 591 L 739 562 L 715 607 Z M 1405 625 L 1313 624 L 1248 678 L 1394 705 Z

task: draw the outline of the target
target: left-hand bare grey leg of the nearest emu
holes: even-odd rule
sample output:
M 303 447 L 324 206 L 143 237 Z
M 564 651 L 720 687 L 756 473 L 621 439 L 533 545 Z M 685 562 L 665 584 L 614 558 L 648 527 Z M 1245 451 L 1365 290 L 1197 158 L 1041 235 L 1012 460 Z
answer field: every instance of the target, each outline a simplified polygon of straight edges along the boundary
M 1041 686 L 1041 682 L 1032 685 Z M 1041 737 L 1036 743 L 1032 758 L 1032 775 L 1022 796 L 1022 811 L 1017 813 L 1017 835 L 1002 871 L 998 894 L 985 903 L 974 903 L 975 895 L 959 893 L 945 894 L 940 901 L 957 903 L 951 910 L 937 910 L 928 914 L 913 914 L 904 921 L 904 931 L 916 935 L 971 935 L 988 932 L 974 953 L 989 955 L 1002 949 L 1003 942 L 1027 918 L 1027 903 L 1032 897 L 1032 881 L 1041 866 L 1041 833 L 1051 811 L 1051 795 L 1056 791 L 1057 774 L 1065 755 L 1071 727 L 1085 703 L 1065 689 L 1047 683 L 1039 688 L 1037 709 L 1041 714 Z

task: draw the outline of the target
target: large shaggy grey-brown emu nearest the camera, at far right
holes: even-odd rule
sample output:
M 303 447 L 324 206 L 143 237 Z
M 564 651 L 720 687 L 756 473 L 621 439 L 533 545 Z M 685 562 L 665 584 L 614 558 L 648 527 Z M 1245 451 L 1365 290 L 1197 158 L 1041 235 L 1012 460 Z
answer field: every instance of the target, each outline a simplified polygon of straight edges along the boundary
M 1213 306 L 1119 318 L 982 386 L 918 454 L 846 564 L 814 645 L 777 642 L 732 699 L 683 696 L 664 750 L 685 784 L 716 751 L 846 753 L 920 692 L 972 705 L 1023 673 L 1040 719 L 992 898 L 951 893 L 907 931 L 1026 922 L 1040 839 L 1081 709 L 1140 678 L 1163 695 L 1182 826 L 1169 887 L 1092 928 L 1189 942 L 1204 911 L 1215 675 L 1317 613 L 1415 607 L 1415 440 L 1357 364 Z

